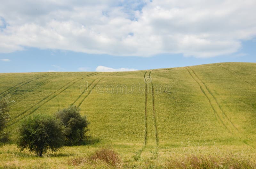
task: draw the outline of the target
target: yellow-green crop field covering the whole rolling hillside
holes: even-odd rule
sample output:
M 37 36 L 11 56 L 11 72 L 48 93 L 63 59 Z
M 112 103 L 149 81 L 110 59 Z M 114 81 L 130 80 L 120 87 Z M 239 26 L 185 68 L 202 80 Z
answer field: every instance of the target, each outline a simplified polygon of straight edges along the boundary
M 256 63 L 1 73 L 0 95 L 8 93 L 15 100 L 7 127 L 11 141 L 0 148 L 0 168 L 111 168 L 100 162 L 70 163 L 102 147 L 120 155 L 121 168 L 196 168 L 194 158 L 213 159 L 219 168 L 234 161 L 256 167 Z M 71 104 L 91 123 L 87 145 L 64 147 L 43 158 L 19 151 L 14 143 L 24 118 L 53 115 Z

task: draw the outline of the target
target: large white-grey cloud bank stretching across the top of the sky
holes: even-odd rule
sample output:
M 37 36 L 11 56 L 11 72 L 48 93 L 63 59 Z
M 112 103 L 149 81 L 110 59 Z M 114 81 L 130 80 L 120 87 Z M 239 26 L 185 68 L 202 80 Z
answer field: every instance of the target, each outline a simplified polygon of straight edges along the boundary
M 255 37 L 255 6 L 255 0 L 4 1 L 0 53 L 35 47 L 120 56 L 226 55 Z

